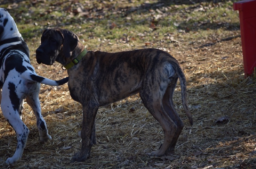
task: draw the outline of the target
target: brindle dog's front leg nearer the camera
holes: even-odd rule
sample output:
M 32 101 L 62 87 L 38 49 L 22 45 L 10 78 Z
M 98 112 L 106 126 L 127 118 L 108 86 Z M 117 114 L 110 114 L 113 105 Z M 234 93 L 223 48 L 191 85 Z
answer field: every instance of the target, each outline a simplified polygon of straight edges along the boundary
M 71 159 L 71 162 L 82 162 L 91 155 L 91 148 L 93 144 L 96 144 L 95 137 L 95 117 L 99 105 L 87 104 L 83 106 L 83 123 L 81 130 L 82 148 L 81 151 L 76 153 Z

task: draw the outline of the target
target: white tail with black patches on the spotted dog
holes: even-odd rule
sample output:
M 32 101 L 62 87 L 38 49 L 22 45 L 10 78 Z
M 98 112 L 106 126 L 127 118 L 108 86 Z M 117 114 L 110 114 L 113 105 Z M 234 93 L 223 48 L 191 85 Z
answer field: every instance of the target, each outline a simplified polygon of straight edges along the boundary
M 30 74 L 24 74 L 24 75 L 26 76 L 25 78 L 28 79 L 29 81 L 35 81 L 35 82 L 42 83 L 45 85 L 50 85 L 50 86 L 60 86 L 68 82 L 68 77 L 65 77 L 64 79 L 61 79 L 58 81 L 54 81 L 51 79 L 44 78 L 42 76 L 38 76 L 37 74 L 30 73 Z

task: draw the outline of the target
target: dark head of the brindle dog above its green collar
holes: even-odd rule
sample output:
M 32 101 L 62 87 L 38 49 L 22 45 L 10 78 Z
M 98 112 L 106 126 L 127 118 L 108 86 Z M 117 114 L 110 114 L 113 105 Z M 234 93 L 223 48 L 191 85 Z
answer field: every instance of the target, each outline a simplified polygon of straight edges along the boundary
M 52 65 L 58 56 L 69 58 L 78 42 L 74 32 L 59 27 L 47 28 L 41 37 L 41 45 L 36 49 L 36 61 Z

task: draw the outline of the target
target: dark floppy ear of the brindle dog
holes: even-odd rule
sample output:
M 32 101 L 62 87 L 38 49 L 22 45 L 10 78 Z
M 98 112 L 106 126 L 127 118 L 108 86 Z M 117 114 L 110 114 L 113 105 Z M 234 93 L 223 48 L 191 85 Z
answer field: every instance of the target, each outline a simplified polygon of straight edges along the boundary
M 78 45 L 79 38 L 74 32 L 68 31 L 66 29 L 61 29 L 60 32 L 63 36 L 63 54 L 65 57 L 69 58 L 71 57 L 73 50 Z

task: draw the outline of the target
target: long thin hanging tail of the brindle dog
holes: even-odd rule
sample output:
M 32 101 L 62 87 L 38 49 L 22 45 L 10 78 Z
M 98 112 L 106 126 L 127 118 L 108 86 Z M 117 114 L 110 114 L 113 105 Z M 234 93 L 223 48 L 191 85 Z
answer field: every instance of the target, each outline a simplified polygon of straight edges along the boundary
M 192 115 L 188 109 L 188 102 L 187 102 L 187 85 L 186 85 L 186 77 L 182 70 L 182 67 L 178 63 L 177 60 L 174 59 L 172 62 L 172 65 L 174 65 L 174 69 L 176 70 L 178 77 L 180 79 L 180 88 L 181 88 L 181 101 L 183 108 L 188 116 L 189 123 L 193 125 L 193 118 Z

